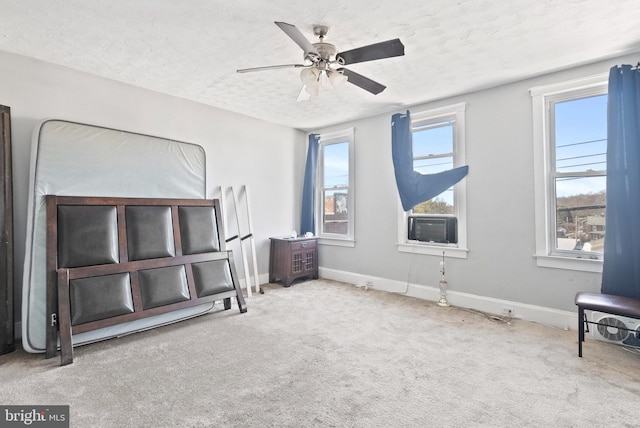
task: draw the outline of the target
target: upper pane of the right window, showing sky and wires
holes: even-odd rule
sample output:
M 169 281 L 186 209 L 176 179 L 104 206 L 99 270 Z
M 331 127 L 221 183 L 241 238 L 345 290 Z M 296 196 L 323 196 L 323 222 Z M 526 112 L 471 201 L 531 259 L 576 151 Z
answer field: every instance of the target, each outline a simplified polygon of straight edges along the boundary
M 558 173 L 607 170 L 607 95 L 555 104 Z

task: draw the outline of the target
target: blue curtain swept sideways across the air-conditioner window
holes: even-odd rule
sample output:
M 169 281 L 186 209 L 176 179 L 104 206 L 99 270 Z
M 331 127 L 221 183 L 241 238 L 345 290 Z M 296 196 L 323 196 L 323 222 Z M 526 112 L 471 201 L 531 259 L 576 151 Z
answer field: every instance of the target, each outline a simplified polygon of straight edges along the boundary
M 406 114 L 398 113 L 391 117 L 391 154 L 398 193 L 405 211 L 438 196 L 469 173 L 466 165 L 437 174 L 420 174 L 413 170 L 411 116 L 408 110 Z

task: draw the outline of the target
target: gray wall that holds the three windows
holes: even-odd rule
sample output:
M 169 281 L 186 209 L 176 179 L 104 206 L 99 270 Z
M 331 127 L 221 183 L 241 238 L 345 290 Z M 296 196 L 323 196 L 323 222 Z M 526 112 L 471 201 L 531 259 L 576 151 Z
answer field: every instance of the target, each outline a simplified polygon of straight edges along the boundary
M 532 104 L 529 89 L 600 73 L 637 57 L 616 58 L 437 102 L 466 102 L 468 258 L 447 260 L 451 291 L 575 311 L 578 291 L 600 291 L 601 275 L 536 266 Z M 472 70 L 470 70 L 472 72 Z M 428 82 L 425 82 L 428 84 Z M 437 83 L 436 83 L 437 84 Z M 391 115 L 331 126 L 355 127 L 356 245 L 324 245 L 321 266 L 335 271 L 437 287 L 440 257 L 399 253 Z

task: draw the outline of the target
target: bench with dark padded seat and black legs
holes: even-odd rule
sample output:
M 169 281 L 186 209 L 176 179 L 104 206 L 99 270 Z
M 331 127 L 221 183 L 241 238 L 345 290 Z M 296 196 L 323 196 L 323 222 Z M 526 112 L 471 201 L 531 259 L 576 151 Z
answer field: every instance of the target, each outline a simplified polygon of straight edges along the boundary
M 584 332 L 589 331 L 589 323 L 585 317 L 584 310 L 603 312 L 611 315 L 620 315 L 630 318 L 640 319 L 640 299 L 632 297 L 614 296 L 612 294 L 586 293 L 576 294 L 575 299 L 578 306 L 578 356 L 582 357 L 582 342 L 584 342 Z

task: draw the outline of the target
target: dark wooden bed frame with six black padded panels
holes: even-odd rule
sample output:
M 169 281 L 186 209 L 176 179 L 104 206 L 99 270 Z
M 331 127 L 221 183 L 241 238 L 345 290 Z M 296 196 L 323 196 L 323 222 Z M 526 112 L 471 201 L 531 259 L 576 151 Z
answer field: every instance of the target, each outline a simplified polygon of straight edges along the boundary
M 58 336 L 66 365 L 73 334 L 232 297 L 247 311 L 218 200 L 48 195 L 46 210 L 46 358 Z

